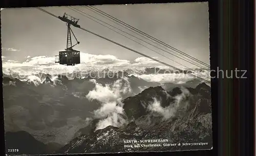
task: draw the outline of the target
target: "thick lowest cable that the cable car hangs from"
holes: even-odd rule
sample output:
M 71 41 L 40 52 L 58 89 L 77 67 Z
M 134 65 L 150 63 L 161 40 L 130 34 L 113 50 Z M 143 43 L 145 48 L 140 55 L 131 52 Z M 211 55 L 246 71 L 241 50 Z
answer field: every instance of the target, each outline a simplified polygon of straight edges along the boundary
M 39 7 L 37 7 L 37 9 L 39 9 Z M 44 9 L 41 9 L 41 8 L 40 8 L 39 10 L 42 11 L 42 10 L 44 10 Z M 50 13 L 50 12 L 48 12 L 48 11 L 46 11 L 46 10 L 44 10 L 44 12 L 45 12 L 45 13 L 48 13 L 48 14 L 50 14 L 50 15 L 53 15 L 52 13 Z M 53 16 L 56 17 L 56 18 L 58 18 L 58 17 L 55 16 L 55 15 L 53 15 Z M 98 34 L 92 32 L 92 31 L 89 31 L 89 30 L 84 29 L 84 28 L 81 28 L 81 27 L 80 27 L 79 29 L 81 29 L 81 30 L 83 30 L 83 31 L 86 31 L 86 32 L 89 32 L 89 33 L 91 33 L 91 34 L 93 34 L 93 35 L 95 35 L 95 36 L 98 36 L 98 37 L 100 37 L 100 38 L 103 38 L 103 39 L 105 39 L 105 40 L 108 40 L 108 41 L 110 41 L 110 42 L 112 42 L 112 43 L 115 43 L 115 44 L 117 44 L 117 45 L 120 46 L 120 47 L 123 47 L 123 48 L 125 48 L 125 49 L 130 50 L 130 51 L 133 51 L 133 52 L 135 52 L 135 53 L 137 53 L 137 54 L 140 54 L 140 55 L 142 55 L 142 56 L 145 56 L 145 57 L 147 57 L 147 58 L 150 58 L 150 59 L 152 59 L 152 60 L 154 60 L 154 61 L 156 61 L 156 62 L 159 62 L 159 63 L 161 63 L 161 64 L 163 64 L 163 65 L 169 66 L 170 68 L 173 68 L 173 69 L 175 69 L 175 70 L 177 70 L 177 71 L 182 71 L 182 70 L 176 68 L 175 66 L 169 65 L 169 64 L 167 64 L 167 63 L 165 63 L 165 62 L 162 62 L 162 61 L 160 61 L 160 60 L 157 60 L 157 59 L 155 59 L 155 58 L 153 58 L 153 57 L 147 56 L 147 55 L 145 55 L 145 54 L 143 54 L 143 53 L 140 53 L 140 52 L 138 52 L 138 51 L 135 51 L 135 50 L 133 50 L 133 49 L 131 49 L 131 48 L 125 47 L 125 46 L 123 46 L 123 45 L 120 44 L 120 43 L 117 43 L 117 42 L 115 42 L 115 41 L 113 41 L 113 40 L 111 40 L 111 39 L 108 39 L 108 38 L 106 38 L 106 37 L 100 36 L 100 35 L 98 35 Z M 199 80 L 201 80 L 201 81 L 203 81 L 203 82 L 206 82 L 206 83 L 209 83 L 209 84 L 210 84 L 210 81 L 205 80 L 205 79 L 203 79 L 203 78 L 201 78 L 201 77 L 198 77 L 198 76 L 196 76 L 196 75 L 189 74 L 189 73 L 188 73 L 187 75 L 192 76 L 192 77 L 194 77 L 194 78 L 197 78 L 197 79 L 199 79 Z

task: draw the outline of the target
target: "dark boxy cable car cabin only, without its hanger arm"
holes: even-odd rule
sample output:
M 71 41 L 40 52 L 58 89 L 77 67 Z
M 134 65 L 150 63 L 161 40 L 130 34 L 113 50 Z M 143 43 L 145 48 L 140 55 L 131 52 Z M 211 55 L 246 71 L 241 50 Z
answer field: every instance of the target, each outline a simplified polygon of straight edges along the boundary
M 80 52 L 76 50 L 60 51 L 55 56 L 55 63 L 63 65 L 75 65 L 80 63 Z

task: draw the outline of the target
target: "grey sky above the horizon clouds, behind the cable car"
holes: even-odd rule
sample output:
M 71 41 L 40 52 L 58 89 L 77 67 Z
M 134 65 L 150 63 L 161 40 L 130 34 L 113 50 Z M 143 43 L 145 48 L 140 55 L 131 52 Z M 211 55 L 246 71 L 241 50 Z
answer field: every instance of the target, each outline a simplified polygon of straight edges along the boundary
M 123 31 L 136 35 L 90 11 L 84 6 L 74 7 Z M 94 7 L 209 64 L 208 3 L 98 5 Z M 156 57 L 168 64 L 174 66 L 181 66 L 181 64 L 191 66 L 191 64 L 181 61 L 179 58 L 135 39 L 148 48 L 181 64 L 164 58 L 67 7 L 43 7 L 43 9 L 60 16 L 66 12 L 78 18 L 78 24 L 82 28 L 112 39 L 148 56 Z M 54 55 L 58 55 L 58 51 L 66 48 L 66 24 L 36 8 L 3 9 L 1 11 L 1 23 L 3 68 L 5 68 L 5 63 L 8 64 L 6 67 L 22 66 L 24 63 L 26 66 L 29 63 L 31 64 L 31 61 L 38 65 L 42 61 L 45 61 L 43 63 L 44 65 L 49 62 L 52 63 L 54 62 Z M 111 60 L 114 62 L 121 60 L 121 62 L 138 63 L 138 60 L 145 60 L 144 58 L 140 58 L 142 56 L 139 54 L 126 50 L 90 33 L 74 27 L 72 27 L 72 30 L 80 41 L 80 44 L 75 46 L 74 49 L 87 54 L 83 55 L 87 58 L 81 58 L 81 60 L 90 62 L 100 58 L 100 61 L 104 61 L 104 57 L 108 61 Z M 127 34 L 124 35 L 128 36 Z M 136 36 L 139 37 L 138 35 Z M 72 39 L 74 43 L 75 39 Z M 141 39 L 146 40 L 144 38 Z M 46 57 L 51 60 L 46 61 Z M 90 60 L 90 58 L 93 58 L 93 60 Z

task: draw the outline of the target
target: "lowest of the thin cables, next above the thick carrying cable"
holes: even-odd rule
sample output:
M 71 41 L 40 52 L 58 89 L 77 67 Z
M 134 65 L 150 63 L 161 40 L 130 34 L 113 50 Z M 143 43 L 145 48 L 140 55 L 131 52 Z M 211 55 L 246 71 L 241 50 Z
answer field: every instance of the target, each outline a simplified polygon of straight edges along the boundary
M 72 8 L 70 8 L 70 9 L 73 10 Z M 73 10 L 73 11 L 75 11 L 75 10 Z M 75 12 L 77 12 L 77 11 L 75 11 Z M 79 12 L 77 12 L 77 13 L 79 13 Z M 81 14 L 81 13 L 79 13 L 79 14 Z M 81 14 L 81 15 L 86 16 L 86 15 L 84 15 L 84 14 Z M 86 16 L 86 17 L 88 17 L 88 16 Z M 89 19 L 92 19 L 92 18 L 90 18 L 90 17 L 88 17 L 88 18 L 89 18 Z M 97 18 L 96 18 L 96 19 L 97 19 Z M 105 25 L 99 23 L 98 21 L 96 21 L 96 20 L 94 20 L 94 19 L 92 19 L 92 20 L 95 21 L 96 23 L 98 23 L 98 24 L 100 24 L 100 25 L 106 27 L 106 28 L 109 28 L 109 27 L 107 27 L 107 26 L 105 26 Z M 181 63 L 179 63 L 179 62 L 177 62 L 177 61 L 175 61 L 175 60 L 173 60 L 173 59 L 170 59 L 169 57 L 166 57 L 166 56 L 164 56 L 163 54 L 158 53 L 157 51 L 155 51 L 155 50 L 153 50 L 153 49 L 150 49 L 150 48 L 144 46 L 143 44 L 137 42 L 136 40 L 134 40 L 134 39 L 132 39 L 132 38 L 129 38 L 129 37 L 127 37 L 127 36 L 125 36 L 125 35 L 123 35 L 123 34 L 117 32 L 117 31 L 115 31 L 115 30 L 113 30 L 113 29 L 111 29 L 111 28 L 109 28 L 109 29 L 112 30 L 112 31 L 114 31 L 114 32 L 116 32 L 116 33 L 118 33 L 118 34 L 120 34 L 120 35 L 122 35 L 122 36 L 124 36 L 124 37 L 126 37 L 126 38 L 128 38 L 128 39 L 131 39 L 131 40 L 135 41 L 136 43 L 140 44 L 141 46 L 143 46 L 143 47 L 145 47 L 145 48 L 147 48 L 147 49 L 149 49 L 149 50 L 151 50 L 151 51 L 153 51 L 153 52 L 155 52 L 155 53 L 157 53 L 157 54 L 159 54 L 159 55 L 161 55 L 161 56 L 163 56 L 163 57 L 165 57 L 165 58 L 167 58 L 167 59 L 169 59 L 169 60 L 172 60 L 172 61 L 174 61 L 174 62 L 176 62 L 176 63 L 178 63 L 178 64 L 184 66 L 184 67 L 187 68 L 188 70 L 193 71 L 192 69 L 188 68 L 187 66 L 185 66 L 185 65 L 183 65 L 183 64 L 181 64 Z M 204 76 L 204 75 L 202 75 L 202 74 L 199 73 L 199 72 L 195 72 L 195 73 L 200 74 L 201 76 Z

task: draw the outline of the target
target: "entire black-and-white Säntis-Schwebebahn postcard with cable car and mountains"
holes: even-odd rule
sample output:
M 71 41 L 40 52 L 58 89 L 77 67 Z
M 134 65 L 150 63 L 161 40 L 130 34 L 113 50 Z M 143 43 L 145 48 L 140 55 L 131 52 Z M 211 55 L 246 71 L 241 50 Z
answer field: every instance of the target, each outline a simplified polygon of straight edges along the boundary
M 1 8 L 8 155 L 212 149 L 207 2 Z

